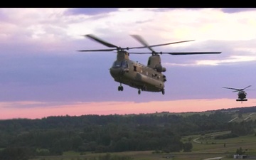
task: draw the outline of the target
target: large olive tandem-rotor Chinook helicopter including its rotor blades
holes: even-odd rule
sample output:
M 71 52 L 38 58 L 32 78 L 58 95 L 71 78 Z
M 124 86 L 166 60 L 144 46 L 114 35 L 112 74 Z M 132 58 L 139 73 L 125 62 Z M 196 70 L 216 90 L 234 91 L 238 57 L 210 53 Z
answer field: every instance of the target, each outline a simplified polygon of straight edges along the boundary
M 117 59 L 114 60 L 112 67 L 110 68 L 110 75 L 114 78 L 114 81 L 119 82 L 118 91 L 123 91 L 124 85 L 134 87 L 138 89 L 138 94 L 141 94 L 141 91 L 148 92 L 161 92 L 164 95 L 164 82 L 166 82 L 166 75 L 163 72 L 166 71 L 161 65 L 161 58 L 159 54 L 169 54 L 169 55 L 194 55 L 194 54 L 219 54 L 221 52 L 176 52 L 176 53 L 162 53 L 156 52 L 152 47 L 156 46 L 166 46 L 174 43 L 183 43 L 188 41 L 178 41 L 173 43 L 164 43 L 149 46 L 146 41 L 141 36 L 131 35 L 133 38 L 137 39 L 143 46 L 140 47 L 127 47 L 121 48 L 115 46 L 111 43 L 103 41 L 100 38 L 92 34 L 85 35 L 85 37 L 97 41 L 104 46 L 107 46 L 111 49 L 98 49 L 98 50 L 78 50 L 80 52 L 94 52 L 94 51 L 114 51 L 117 50 Z M 194 41 L 194 40 L 190 40 Z M 128 53 L 127 50 L 134 48 L 149 48 L 150 53 Z M 151 54 L 147 65 L 135 62 L 129 59 L 129 54 Z

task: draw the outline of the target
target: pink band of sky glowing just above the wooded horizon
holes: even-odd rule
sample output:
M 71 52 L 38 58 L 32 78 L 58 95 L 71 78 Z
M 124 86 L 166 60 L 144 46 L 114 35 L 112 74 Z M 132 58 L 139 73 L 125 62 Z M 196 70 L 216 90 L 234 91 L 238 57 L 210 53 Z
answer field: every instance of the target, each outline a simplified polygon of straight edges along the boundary
M 236 102 L 235 99 L 173 100 L 152 102 L 0 102 L 0 119 L 37 119 L 49 116 L 85 114 L 147 114 L 155 112 L 203 112 L 235 107 L 255 106 L 256 99 Z M 26 105 L 28 107 L 26 107 Z M 36 105 L 29 107 L 31 105 Z

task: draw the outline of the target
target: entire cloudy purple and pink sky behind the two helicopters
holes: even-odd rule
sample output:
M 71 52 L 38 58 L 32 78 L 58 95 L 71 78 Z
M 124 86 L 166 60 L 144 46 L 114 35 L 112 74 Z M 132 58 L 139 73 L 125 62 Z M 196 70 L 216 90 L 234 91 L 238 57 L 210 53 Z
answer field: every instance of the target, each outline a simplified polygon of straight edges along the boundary
M 53 115 L 201 112 L 255 106 L 256 9 L 2 8 L 0 9 L 0 119 Z M 195 40 L 154 48 L 217 55 L 161 55 L 165 95 L 142 92 L 110 75 L 115 52 L 82 35 L 122 47 Z M 146 48 L 140 50 L 148 52 Z M 146 64 L 149 55 L 130 55 Z M 247 102 L 236 102 L 244 88 Z

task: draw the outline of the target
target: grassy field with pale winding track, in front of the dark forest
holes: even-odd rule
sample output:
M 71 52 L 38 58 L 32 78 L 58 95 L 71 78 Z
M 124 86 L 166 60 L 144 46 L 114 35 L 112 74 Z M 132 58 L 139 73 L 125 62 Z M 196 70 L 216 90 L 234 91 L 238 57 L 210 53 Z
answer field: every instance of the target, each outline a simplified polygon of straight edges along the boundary
M 133 160 L 206 160 L 213 158 L 218 158 L 217 160 L 230 160 L 233 159 L 233 154 L 235 154 L 236 150 L 241 147 L 245 154 L 256 157 L 255 134 L 230 139 L 214 139 L 215 135 L 227 133 L 229 131 L 206 134 L 203 137 L 201 135 L 183 137 L 183 142 L 192 142 L 193 149 L 191 152 L 153 154 L 153 151 L 127 151 L 109 154 L 111 156 L 129 156 Z M 41 156 L 31 160 L 97 160 L 99 156 L 105 155 L 92 153 L 80 155 L 80 153 L 68 151 L 63 156 Z

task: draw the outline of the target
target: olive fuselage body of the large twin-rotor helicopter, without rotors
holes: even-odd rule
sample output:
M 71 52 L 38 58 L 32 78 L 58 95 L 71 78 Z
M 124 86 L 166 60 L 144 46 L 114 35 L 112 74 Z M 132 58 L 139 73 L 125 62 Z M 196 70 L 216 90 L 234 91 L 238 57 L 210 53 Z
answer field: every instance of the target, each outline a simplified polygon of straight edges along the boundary
M 118 90 L 123 90 L 122 84 L 129 85 L 142 91 L 162 92 L 166 76 L 153 68 L 149 68 L 133 60 L 129 60 L 129 53 L 119 51 L 117 60 L 110 68 L 110 75 L 114 81 L 119 82 Z

